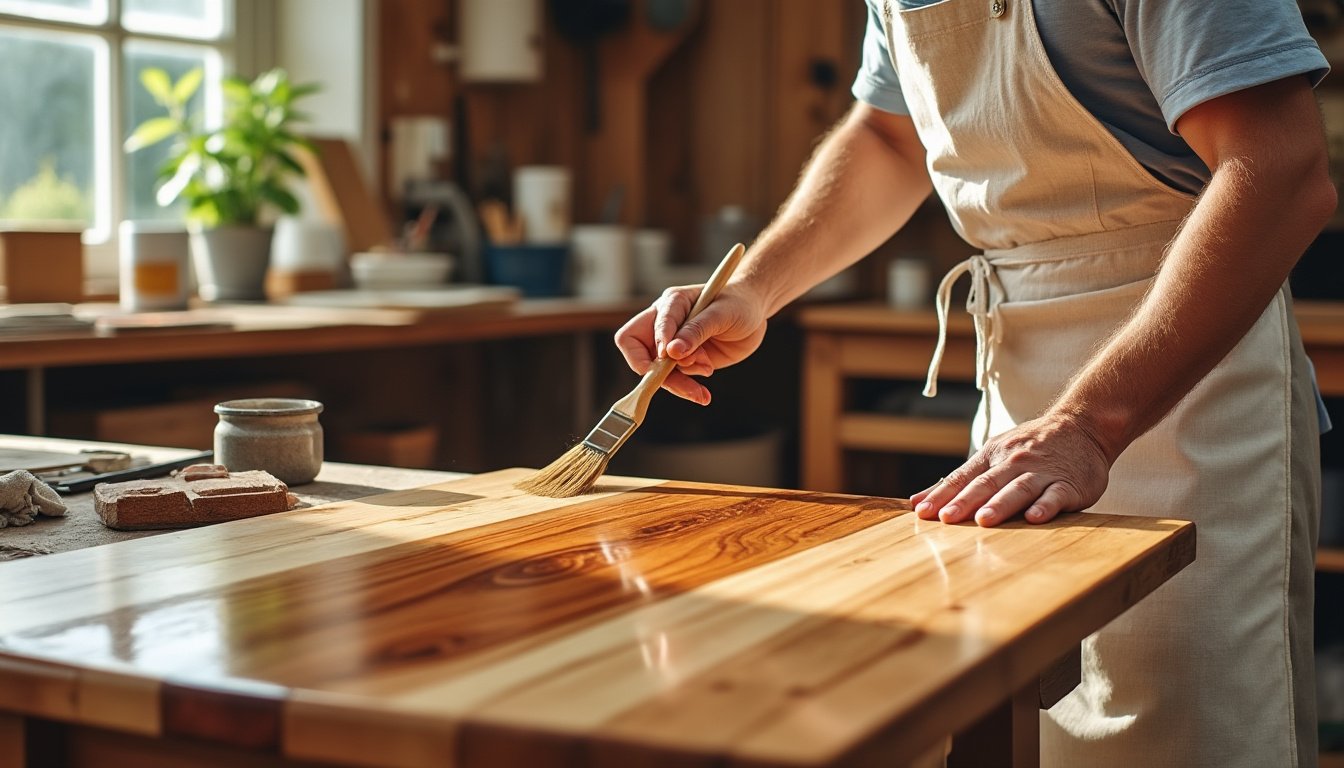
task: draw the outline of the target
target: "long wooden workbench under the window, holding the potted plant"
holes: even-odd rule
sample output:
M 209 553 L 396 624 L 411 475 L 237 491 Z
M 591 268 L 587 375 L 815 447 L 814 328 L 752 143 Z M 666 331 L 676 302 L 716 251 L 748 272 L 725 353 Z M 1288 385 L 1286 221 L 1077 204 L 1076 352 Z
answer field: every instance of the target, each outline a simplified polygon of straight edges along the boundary
M 125 371 L 138 364 L 145 370 L 153 367 L 155 375 L 167 378 L 164 374 L 172 370 L 190 370 L 179 363 L 200 360 L 247 359 L 253 360 L 254 370 L 263 371 L 271 367 L 273 360 L 280 364 L 288 362 L 280 360 L 281 358 L 331 358 L 344 352 L 368 355 L 449 344 L 465 350 L 478 342 L 551 338 L 567 347 L 563 358 L 569 364 L 552 375 L 571 377 L 562 378 L 563 391 L 574 393 L 567 404 L 573 417 L 564 429 L 578 432 L 590 426 L 595 418 L 594 340 L 612 334 L 641 305 L 637 301 L 521 300 L 482 309 L 417 311 L 251 304 L 156 313 L 183 321 L 218 320 L 223 323 L 222 327 L 165 327 L 110 335 L 93 331 L 32 336 L 7 334 L 0 336 L 0 370 L 23 371 L 24 377 L 23 399 L 15 398 L 5 404 L 13 409 L 7 418 L 13 425 L 11 430 L 48 434 L 48 426 L 54 421 L 48 414 L 71 405 L 70 398 L 59 401 L 50 397 L 51 391 L 59 389 L 51 385 L 60 373 L 56 369 L 121 366 L 120 370 Z M 77 308 L 77 312 L 89 316 L 105 311 L 103 307 Z M 478 366 L 462 363 L 454 375 L 457 381 L 468 382 L 468 377 L 477 370 Z M 333 374 L 328 370 L 325 375 Z M 23 408 L 22 417 L 19 408 Z M 352 414 L 345 410 L 335 416 Z M 476 418 L 474 413 L 465 414 L 461 425 L 464 430 L 473 429 L 469 424 L 472 418 Z M 151 441 L 153 436 L 120 438 Z

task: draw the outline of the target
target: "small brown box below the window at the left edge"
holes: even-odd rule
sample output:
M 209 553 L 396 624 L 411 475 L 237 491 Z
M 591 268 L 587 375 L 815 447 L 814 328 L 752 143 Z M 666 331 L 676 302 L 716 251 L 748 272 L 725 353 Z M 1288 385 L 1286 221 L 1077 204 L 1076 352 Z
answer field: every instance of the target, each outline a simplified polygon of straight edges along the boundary
M 0 265 L 9 304 L 83 301 L 78 230 L 0 230 Z

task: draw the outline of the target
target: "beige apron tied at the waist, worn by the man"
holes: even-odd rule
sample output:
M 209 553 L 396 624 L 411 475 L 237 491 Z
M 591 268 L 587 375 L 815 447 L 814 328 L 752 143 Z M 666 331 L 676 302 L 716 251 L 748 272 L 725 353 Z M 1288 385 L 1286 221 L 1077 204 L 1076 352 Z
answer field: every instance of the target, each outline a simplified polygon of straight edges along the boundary
M 1152 284 L 1193 199 L 1055 74 L 1031 0 L 943 0 L 883 27 L 953 225 L 980 342 L 977 447 L 1042 413 Z M 1286 288 L 1116 463 L 1095 511 L 1198 525 L 1198 561 L 1083 644 L 1042 714 L 1054 767 L 1316 764 L 1313 390 Z M 941 348 L 941 344 L 939 344 Z M 930 369 L 935 389 L 938 356 Z

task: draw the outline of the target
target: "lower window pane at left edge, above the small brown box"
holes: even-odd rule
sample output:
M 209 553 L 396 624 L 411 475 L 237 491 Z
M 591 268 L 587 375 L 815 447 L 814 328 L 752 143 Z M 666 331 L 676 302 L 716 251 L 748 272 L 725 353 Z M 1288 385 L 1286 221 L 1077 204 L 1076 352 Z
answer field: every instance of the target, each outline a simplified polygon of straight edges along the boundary
M 0 28 L 0 219 L 94 223 L 94 44 Z

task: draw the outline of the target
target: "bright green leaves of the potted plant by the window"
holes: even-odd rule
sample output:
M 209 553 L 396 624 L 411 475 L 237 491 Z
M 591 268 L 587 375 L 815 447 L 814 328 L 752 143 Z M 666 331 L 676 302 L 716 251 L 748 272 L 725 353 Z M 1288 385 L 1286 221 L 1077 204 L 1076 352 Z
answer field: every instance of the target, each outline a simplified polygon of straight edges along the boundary
M 160 169 L 160 204 L 185 200 L 187 217 L 207 227 L 255 223 L 266 207 L 298 213 L 298 199 L 288 184 L 304 175 L 304 167 L 293 152 L 310 149 L 312 143 L 293 132 L 293 125 L 306 118 L 293 104 L 317 93 L 317 85 L 294 85 L 278 69 L 251 82 L 226 77 L 219 82 L 224 125 L 204 130 L 196 128 L 199 116 L 185 113 L 202 86 L 200 69 L 176 83 L 156 69 L 144 70 L 140 79 L 168 114 L 138 125 L 125 148 L 134 152 L 175 139 Z

